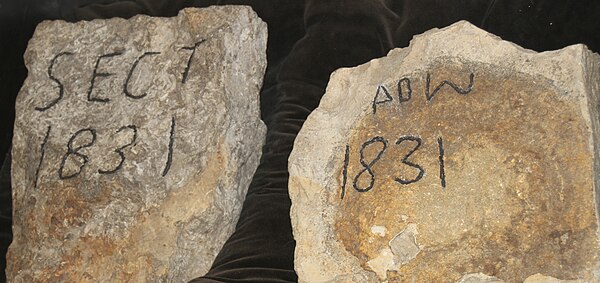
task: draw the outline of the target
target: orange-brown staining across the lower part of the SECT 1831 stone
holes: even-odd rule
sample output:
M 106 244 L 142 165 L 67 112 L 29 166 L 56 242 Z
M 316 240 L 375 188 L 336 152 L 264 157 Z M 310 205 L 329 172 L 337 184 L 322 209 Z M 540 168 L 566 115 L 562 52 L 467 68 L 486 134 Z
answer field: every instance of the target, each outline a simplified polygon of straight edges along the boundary
M 177 249 L 176 234 L 179 228 L 175 223 L 191 221 L 199 211 L 209 208 L 213 203 L 213 190 L 220 182 L 222 171 L 228 166 L 229 152 L 221 146 L 225 141 L 218 141 L 215 142 L 214 152 L 207 154 L 209 161 L 204 170 L 192 177 L 184 187 L 173 189 L 160 206 L 138 211 L 135 226 L 120 232 L 122 237 L 97 233 L 87 235 L 85 227 L 92 220 L 94 212 L 101 211 L 115 201 L 114 191 L 130 189 L 126 182 L 106 178 L 99 182 L 94 192 L 80 188 L 80 182 L 89 180 L 74 178 L 44 183 L 39 190 L 60 197 L 30 200 L 37 206 L 27 207 L 27 211 L 18 213 L 24 221 L 20 218 L 17 220 L 24 223 L 19 225 L 22 229 L 34 232 L 21 233 L 22 237 L 15 241 L 19 241 L 24 249 L 30 248 L 28 242 L 60 241 L 62 248 L 53 251 L 57 256 L 45 262 L 22 257 L 11 250 L 8 259 L 17 263 L 11 266 L 43 266 L 40 267 L 43 272 L 24 278 L 30 282 L 144 282 L 148 278 L 166 278 L 169 266 L 165 266 L 161 260 L 168 259 Z M 35 209 L 46 213 L 34 213 Z M 36 252 L 44 254 L 46 251 L 41 249 Z M 121 263 L 122 268 L 107 270 L 106 266 L 114 262 Z M 16 274 L 15 271 L 12 273 Z

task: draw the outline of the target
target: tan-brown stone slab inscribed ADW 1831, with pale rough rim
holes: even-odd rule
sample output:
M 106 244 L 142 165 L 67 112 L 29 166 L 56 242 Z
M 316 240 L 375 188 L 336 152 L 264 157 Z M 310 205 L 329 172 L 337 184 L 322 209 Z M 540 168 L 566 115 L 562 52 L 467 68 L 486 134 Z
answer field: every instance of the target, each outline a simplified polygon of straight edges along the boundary
M 599 75 L 467 22 L 337 70 L 289 161 L 300 281 L 598 282 Z

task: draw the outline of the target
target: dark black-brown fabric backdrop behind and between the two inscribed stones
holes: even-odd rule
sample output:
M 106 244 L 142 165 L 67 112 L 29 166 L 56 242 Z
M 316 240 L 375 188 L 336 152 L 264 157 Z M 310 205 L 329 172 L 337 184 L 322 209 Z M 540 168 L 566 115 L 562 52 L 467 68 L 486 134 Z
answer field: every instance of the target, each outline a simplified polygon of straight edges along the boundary
M 405 47 L 413 35 L 468 20 L 537 51 L 574 43 L 600 50 L 599 1 L 548 0 L 0 0 L 0 253 L 12 239 L 9 147 L 15 96 L 26 76 L 22 55 L 43 19 L 68 21 L 136 14 L 173 16 L 184 7 L 250 5 L 268 24 L 261 90 L 267 142 L 236 231 L 211 271 L 196 282 L 293 282 L 287 158 L 329 75 Z M 0 260 L 0 281 L 5 260 Z

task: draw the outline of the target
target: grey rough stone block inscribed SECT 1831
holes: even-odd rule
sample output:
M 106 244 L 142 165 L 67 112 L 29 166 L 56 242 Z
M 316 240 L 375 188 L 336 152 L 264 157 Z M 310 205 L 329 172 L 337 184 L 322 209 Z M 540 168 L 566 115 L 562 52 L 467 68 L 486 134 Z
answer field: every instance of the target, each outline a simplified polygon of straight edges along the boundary
M 41 23 L 16 104 L 9 279 L 206 273 L 264 143 L 266 37 L 242 6 Z

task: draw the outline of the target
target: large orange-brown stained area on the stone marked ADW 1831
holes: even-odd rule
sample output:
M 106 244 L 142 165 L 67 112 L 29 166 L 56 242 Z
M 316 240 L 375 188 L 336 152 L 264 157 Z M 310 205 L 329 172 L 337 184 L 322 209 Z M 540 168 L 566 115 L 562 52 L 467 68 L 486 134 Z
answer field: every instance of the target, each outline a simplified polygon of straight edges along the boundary
M 430 94 L 444 80 L 467 89 L 471 73 L 472 90 L 459 94 L 444 85 L 427 101 L 427 73 Z M 391 282 L 456 282 L 477 272 L 506 282 L 535 273 L 591 278 L 599 258 L 593 153 L 577 102 L 542 78 L 452 59 L 399 75 L 382 82 L 393 100 L 376 104 L 376 113 L 362 118 L 348 144 L 346 192 L 335 230 L 363 268 L 370 269 L 368 262 L 414 223 L 421 250 L 387 272 Z M 397 82 L 403 77 L 410 78 L 412 97 L 400 103 Z M 404 163 L 417 142 L 397 144 L 403 136 L 422 141 Z M 384 142 L 365 146 L 374 137 L 387 142 L 384 151 Z M 371 182 L 360 163 L 361 147 L 367 165 L 383 151 L 369 166 L 374 182 L 366 192 L 354 188 L 355 180 L 359 189 Z M 395 181 L 416 179 L 415 165 L 424 171 L 420 180 Z M 387 233 L 373 233 L 373 226 Z

